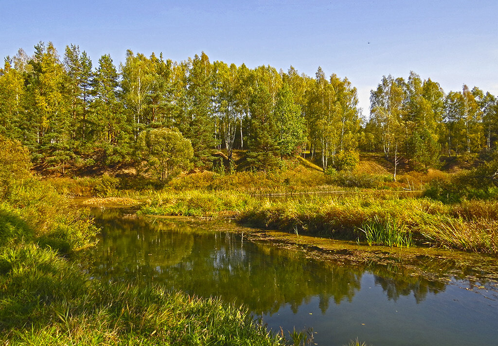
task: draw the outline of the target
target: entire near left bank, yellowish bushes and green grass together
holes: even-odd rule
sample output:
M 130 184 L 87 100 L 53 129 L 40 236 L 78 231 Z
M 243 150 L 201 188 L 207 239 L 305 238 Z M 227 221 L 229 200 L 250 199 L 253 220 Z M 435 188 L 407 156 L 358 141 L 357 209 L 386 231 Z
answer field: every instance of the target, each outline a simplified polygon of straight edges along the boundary
M 0 344 L 284 345 L 242 307 L 92 280 L 73 262 L 98 230 L 0 138 Z

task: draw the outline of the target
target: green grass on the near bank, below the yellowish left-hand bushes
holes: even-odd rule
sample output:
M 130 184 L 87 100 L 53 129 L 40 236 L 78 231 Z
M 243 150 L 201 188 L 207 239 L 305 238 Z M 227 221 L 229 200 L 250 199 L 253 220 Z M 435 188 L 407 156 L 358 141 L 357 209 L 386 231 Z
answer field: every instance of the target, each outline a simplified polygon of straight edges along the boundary
M 90 280 L 34 244 L 0 253 L 0 342 L 9 345 L 281 345 L 240 306 L 157 286 Z

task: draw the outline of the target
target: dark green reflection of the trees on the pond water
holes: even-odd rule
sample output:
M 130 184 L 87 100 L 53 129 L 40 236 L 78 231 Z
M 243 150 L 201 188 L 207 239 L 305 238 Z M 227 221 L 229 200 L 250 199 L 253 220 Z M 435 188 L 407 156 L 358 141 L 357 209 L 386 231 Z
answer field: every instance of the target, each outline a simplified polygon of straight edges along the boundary
M 150 222 L 117 217 L 115 211 L 99 215 L 97 222 L 102 239 L 88 264 L 95 277 L 219 295 L 261 313 L 272 314 L 284 304 L 296 313 L 314 296 L 325 313 L 330 302 L 352 301 L 366 270 L 373 271 L 375 284 L 388 299 L 413 295 L 420 302 L 429 292 L 445 290 L 444 283 L 403 275 L 403 267 L 396 264 L 337 265 L 269 242 L 245 241 L 239 233 L 208 231 L 181 221 Z

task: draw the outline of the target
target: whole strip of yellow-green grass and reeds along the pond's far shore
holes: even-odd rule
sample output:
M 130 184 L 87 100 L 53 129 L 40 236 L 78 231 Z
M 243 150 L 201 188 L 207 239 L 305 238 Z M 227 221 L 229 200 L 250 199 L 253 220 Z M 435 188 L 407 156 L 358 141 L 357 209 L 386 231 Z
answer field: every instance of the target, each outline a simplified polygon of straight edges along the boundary
M 498 254 L 498 202 L 443 204 L 387 193 L 255 198 L 231 191 L 162 192 L 149 196 L 148 215 L 230 216 L 261 228 L 407 247 L 414 243 Z

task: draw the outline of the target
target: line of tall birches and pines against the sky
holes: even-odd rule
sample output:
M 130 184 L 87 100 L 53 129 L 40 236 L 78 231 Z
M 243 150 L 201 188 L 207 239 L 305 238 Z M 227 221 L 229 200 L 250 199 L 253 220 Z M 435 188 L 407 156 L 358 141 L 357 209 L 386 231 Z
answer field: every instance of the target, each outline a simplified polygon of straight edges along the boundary
M 247 150 L 248 167 L 269 169 L 296 154 L 336 166 L 357 150 L 430 167 L 440 155 L 477 153 L 496 145 L 497 98 L 479 88 L 445 93 L 410 73 L 383 77 L 371 93 L 371 116 L 358 108 L 347 78 L 314 77 L 292 66 L 211 62 L 205 53 L 176 62 L 154 53 L 110 55 L 94 66 L 79 46 L 61 57 L 52 43 L 22 49 L 0 69 L 0 134 L 29 148 L 35 162 L 113 165 L 129 160 L 140 133 L 178 130 L 190 140 L 193 164 L 211 169 L 214 150 L 233 160 Z

